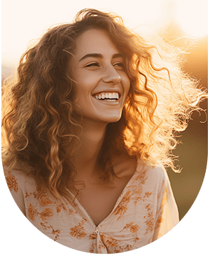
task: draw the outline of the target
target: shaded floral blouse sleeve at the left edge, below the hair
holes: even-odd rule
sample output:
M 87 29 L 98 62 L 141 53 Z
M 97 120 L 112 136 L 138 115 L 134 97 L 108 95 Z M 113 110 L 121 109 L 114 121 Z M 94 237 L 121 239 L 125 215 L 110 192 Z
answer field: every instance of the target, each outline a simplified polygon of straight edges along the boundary
M 15 171 L 6 172 L 5 168 L 3 168 L 3 172 L 6 179 L 6 184 L 11 196 L 13 197 L 13 200 L 15 201 L 22 214 L 26 216 L 23 175 Z

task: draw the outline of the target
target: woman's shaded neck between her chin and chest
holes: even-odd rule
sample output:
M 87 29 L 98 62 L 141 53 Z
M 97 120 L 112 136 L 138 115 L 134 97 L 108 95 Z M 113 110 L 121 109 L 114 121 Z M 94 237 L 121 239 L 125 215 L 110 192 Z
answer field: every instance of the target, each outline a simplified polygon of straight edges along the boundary
M 102 148 L 106 124 L 83 120 L 83 132 L 80 135 L 81 146 L 75 154 L 77 179 L 91 178 L 97 164 L 97 157 Z

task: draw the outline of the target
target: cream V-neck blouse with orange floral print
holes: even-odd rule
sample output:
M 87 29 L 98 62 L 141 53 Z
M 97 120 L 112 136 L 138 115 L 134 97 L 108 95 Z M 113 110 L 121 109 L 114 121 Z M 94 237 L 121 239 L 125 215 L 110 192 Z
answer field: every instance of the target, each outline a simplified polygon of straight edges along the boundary
M 24 172 L 4 168 L 8 189 L 29 222 L 45 236 L 80 252 L 115 254 L 141 248 L 179 223 L 167 172 L 138 160 L 115 207 L 98 226 L 78 200 L 56 200 Z

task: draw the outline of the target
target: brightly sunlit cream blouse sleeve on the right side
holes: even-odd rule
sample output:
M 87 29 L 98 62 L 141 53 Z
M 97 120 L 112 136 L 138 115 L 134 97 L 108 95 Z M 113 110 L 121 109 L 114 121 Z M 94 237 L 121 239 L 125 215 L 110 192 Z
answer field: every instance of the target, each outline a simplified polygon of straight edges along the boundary
M 163 169 L 162 174 L 164 177 L 158 191 L 158 211 L 155 218 L 153 241 L 165 236 L 166 233 L 179 223 L 178 207 L 165 169 Z

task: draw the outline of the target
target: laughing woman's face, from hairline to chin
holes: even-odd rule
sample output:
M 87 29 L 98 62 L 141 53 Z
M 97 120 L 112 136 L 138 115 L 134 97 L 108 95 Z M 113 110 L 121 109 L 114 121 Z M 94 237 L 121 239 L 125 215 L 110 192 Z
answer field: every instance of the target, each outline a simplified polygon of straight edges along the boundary
M 90 29 L 78 37 L 70 65 L 78 86 L 76 104 L 83 120 L 104 122 L 104 129 L 106 124 L 120 120 L 130 89 L 124 63 L 107 32 Z M 115 101 L 109 98 L 111 92 L 117 94 Z

